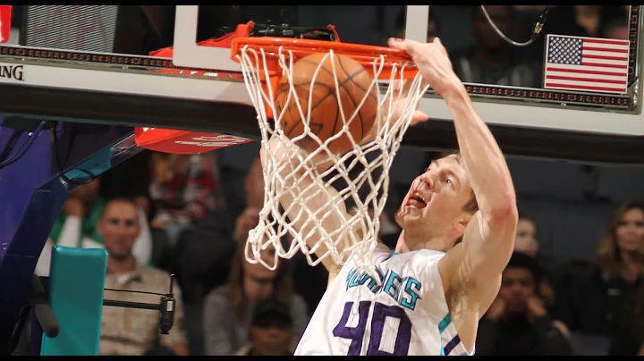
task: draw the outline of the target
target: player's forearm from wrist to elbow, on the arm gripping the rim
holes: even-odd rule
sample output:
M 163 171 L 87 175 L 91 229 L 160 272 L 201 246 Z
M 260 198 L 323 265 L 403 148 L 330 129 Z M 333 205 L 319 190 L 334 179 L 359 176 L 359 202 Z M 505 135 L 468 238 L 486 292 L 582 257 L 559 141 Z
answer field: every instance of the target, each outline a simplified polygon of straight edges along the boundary
M 515 213 L 514 186 L 504 155 L 465 87 L 459 82 L 443 97 L 453 115 L 462 160 L 481 214 L 490 221 Z

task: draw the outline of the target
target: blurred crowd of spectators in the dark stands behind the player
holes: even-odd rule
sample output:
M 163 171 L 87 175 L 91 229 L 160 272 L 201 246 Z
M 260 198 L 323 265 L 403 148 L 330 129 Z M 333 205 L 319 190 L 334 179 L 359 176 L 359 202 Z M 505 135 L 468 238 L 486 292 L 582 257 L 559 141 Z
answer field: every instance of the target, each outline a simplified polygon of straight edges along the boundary
M 540 87 L 543 54 L 518 55 L 472 6 L 474 44 L 454 50 L 463 81 Z M 628 38 L 622 5 L 555 6 L 544 33 Z M 489 5 L 508 37 L 530 38 L 543 5 Z M 518 27 L 517 24 L 522 26 Z M 403 34 L 404 13 L 397 33 Z M 428 39 L 441 22 L 430 16 Z M 527 30 L 522 33 L 520 29 Z M 531 49 L 543 50 L 543 45 Z M 222 167 L 217 151 L 170 155 L 148 150 L 73 189 L 37 266 L 47 275 L 54 245 L 106 248 L 106 288 L 164 293 L 177 280 L 174 327 L 158 332 L 157 311 L 104 306 L 101 355 L 292 355 L 326 290 L 326 270 L 304 256 L 250 264 L 244 243 L 264 205 L 258 158 L 248 172 Z M 381 220 L 393 247 L 395 207 Z M 523 212 L 523 210 L 520 210 Z M 521 214 L 515 252 L 498 296 L 479 325 L 476 355 L 636 355 L 644 352 L 644 204 L 606 220 L 589 262 L 558 263 L 539 248 L 539 226 Z M 136 293 L 106 298 L 140 302 Z

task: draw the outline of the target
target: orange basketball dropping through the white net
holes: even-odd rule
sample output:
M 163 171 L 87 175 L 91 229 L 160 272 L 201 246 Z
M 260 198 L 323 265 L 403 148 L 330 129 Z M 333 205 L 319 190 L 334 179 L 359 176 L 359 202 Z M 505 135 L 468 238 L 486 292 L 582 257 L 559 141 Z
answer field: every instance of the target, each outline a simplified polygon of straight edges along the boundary
M 284 135 L 289 139 L 300 136 L 304 133 L 310 96 L 310 131 L 322 142 L 339 132 L 342 133 L 342 136 L 329 141 L 326 147 L 334 154 L 344 154 L 353 148 L 350 137 L 354 142 L 360 143 L 376 122 L 377 88 L 374 86 L 369 89 L 373 81 L 369 72 L 352 57 L 334 54 L 333 57 L 328 55 L 325 59 L 325 55 L 315 53 L 293 63 L 292 84 L 295 92 L 291 99 L 288 99 L 290 84 L 288 78 L 283 77 L 275 92 L 275 117 L 284 111 L 279 120 Z M 321 63 L 322 61 L 324 63 Z M 332 62 L 335 62 L 337 88 Z M 318 66 L 320 69 L 316 76 Z M 295 97 L 301 104 L 302 113 L 305 115 L 304 121 Z M 360 106 L 363 98 L 364 104 Z M 286 104 L 287 101 L 288 104 Z M 344 118 L 340 105 L 342 105 Z M 358 108 L 360 108 L 359 113 L 352 118 Z M 343 131 L 343 119 L 348 122 L 347 131 L 350 134 Z M 320 147 L 318 142 L 309 136 L 297 140 L 296 144 L 308 152 Z

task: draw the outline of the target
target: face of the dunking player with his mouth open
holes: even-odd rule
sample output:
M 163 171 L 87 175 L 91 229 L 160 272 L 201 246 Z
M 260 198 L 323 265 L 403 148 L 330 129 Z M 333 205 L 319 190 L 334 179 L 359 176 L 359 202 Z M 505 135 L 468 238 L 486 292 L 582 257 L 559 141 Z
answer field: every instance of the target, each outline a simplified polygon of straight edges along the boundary
M 453 232 L 454 222 L 459 222 L 466 212 L 472 189 L 467 172 L 456 155 L 448 155 L 429 164 L 426 172 L 411 183 L 402 200 L 396 221 L 405 230 L 424 229 L 428 237 L 433 234 Z M 458 234 L 449 234 L 454 238 Z

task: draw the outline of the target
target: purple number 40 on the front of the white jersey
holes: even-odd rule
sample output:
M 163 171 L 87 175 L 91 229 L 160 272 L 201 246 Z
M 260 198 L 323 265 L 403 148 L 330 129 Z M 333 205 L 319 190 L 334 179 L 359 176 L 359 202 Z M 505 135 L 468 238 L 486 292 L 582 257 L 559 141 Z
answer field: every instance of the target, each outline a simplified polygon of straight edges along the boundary
M 353 302 L 347 302 L 344 304 L 343 316 L 337 326 L 335 326 L 333 334 L 335 337 L 352 340 L 347 356 L 360 355 L 365 330 L 367 328 L 367 320 L 369 319 L 369 309 L 371 308 L 372 303 L 374 304 L 374 307 L 369 327 L 371 335 L 369 336 L 367 356 L 407 356 L 411 340 L 411 320 L 402 307 L 386 306 L 379 302 L 371 301 L 360 301 L 360 304 L 358 305 L 358 325 L 355 327 L 347 326 L 349 315 L 351 315 L 352 312 Z M 387 317 L 397 318 L 400 320 L 398 332 L 396 332 L 395 336 L 393 353 L 380 350 L 380 341 L 382 340 L 385 320 Z

